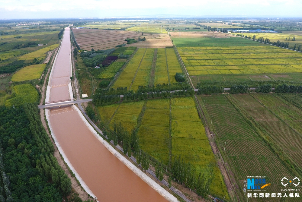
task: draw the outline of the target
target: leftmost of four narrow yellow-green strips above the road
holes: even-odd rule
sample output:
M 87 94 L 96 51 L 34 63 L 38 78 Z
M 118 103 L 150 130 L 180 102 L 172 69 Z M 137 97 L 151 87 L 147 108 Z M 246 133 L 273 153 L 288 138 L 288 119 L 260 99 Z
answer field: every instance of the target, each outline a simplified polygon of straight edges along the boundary
M 138 49 L 133 58 L 129 61 L 124 71 L 120 74 L 117 81 L 114 83 L 114 88 L 127 87 L 129 89 L 133 77 L 140 65 L 146 49 Z

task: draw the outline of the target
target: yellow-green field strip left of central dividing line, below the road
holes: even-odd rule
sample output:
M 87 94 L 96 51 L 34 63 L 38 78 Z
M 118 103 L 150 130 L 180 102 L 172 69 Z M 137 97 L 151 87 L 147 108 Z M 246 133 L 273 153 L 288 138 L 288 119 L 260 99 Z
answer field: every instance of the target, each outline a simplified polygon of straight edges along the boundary
M 170 99 L 148 100 L 138 135 L 140 147 L 169 165 Z

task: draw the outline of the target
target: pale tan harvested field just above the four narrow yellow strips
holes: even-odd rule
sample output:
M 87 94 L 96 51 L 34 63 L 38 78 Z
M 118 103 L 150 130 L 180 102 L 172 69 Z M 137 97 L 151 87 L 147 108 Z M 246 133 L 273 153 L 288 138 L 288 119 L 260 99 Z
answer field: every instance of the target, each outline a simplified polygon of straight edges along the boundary
M 156 34 L 151 36 L 153 37 L 146 38 L 146 41 L 139 41 L 137 43 L 127 44 L 126 46 L 136 46 L 137 48 L 165 48 L 166 46 L 173 46 L 171 39 L 167 34 Z

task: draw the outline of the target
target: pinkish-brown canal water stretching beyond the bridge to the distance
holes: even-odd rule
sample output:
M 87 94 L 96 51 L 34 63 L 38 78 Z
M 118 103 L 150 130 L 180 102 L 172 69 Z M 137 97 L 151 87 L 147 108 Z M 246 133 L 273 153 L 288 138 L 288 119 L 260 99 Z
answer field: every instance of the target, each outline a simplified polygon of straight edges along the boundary
M 70 29 L 65 28 L 62 43 L 56 61 L 53 65 L 53 73 L 51 77 L 50 101 L 58 101 L 71 99 L 69 97 L 68 84 L 70 82 Z

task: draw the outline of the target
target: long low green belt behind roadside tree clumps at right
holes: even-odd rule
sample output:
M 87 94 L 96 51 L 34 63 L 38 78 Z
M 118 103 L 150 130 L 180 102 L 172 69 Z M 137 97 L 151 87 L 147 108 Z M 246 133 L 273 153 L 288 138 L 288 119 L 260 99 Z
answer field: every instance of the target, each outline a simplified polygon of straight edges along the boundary
M 292 84 L 292 85 L 301 85 L 302 82 L 297 81 L 285 81 L 285 80 L 248 80 L 248 81 L 202 81 L 197 84 L 197 88 L 201 86 L 215 85 L 223 86 L 225 88 L 230 88 L 233 85 L 248 85 L 249 87 L 259 87 L 259 85 L 271 84 L 272 87 L 275 87 L 279 84 Z

